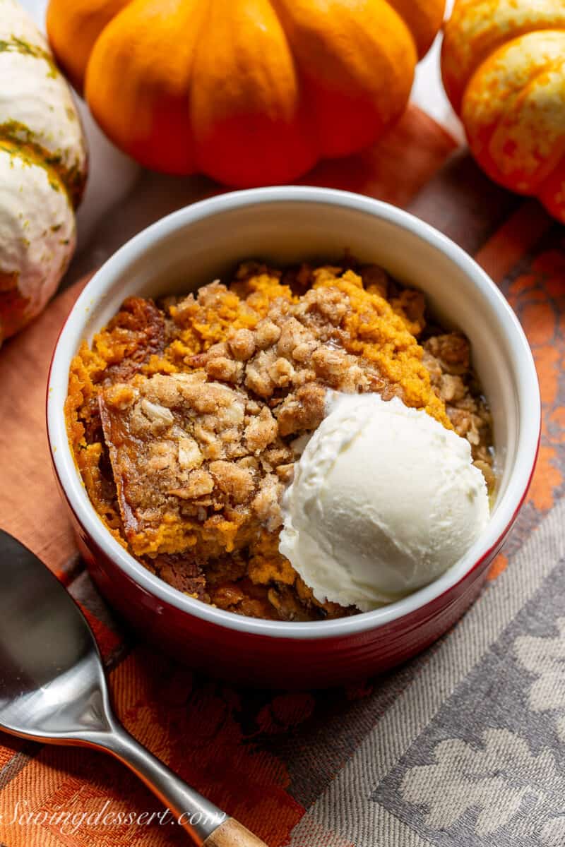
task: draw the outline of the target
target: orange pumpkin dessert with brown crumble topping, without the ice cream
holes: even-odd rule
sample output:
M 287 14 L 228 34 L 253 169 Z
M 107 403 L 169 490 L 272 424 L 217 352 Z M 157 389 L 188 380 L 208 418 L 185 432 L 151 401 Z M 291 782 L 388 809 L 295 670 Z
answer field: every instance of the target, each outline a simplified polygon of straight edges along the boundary
M 75 357 L 66 418 L 94 507 L 145 567 L 230 612 L 319 620 L 359 609 L 314 595 L 280 552 L 284 495 L 327 397 L 367 393 L 455 430 L 492 488 L 468 341 L 349 259 L 130 297 Z

